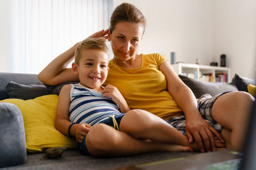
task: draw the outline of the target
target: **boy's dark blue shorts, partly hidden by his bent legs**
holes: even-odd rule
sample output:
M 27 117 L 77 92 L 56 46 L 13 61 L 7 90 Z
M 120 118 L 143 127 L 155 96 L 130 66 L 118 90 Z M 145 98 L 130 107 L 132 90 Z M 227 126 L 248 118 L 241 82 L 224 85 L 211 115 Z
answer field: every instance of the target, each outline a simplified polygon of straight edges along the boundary
M 121 113 L 120 115 L 115 115 L 115 120 L 116 120 L 116 123 L 118 124 L 118 127 L 120 126 L 121 119 L 124 117 L 124 115 L 125 115 L 125 113 Z M 111 117 L 100 122 L 100 124 L 106 124 L 111 127 L 115 127 L 115 125 L 113 123 L 113 119 Z M 115 127 L 115 129 L 118 130 L 116 127 Z M 90 153 L 88 152 L 88 149 L 86 147 L 86 136 L 84 136 L 82 143 L 78 143 L 78 148 L 79 148 L 80 153 L 83 153 L 84 155 L 90 155 Z

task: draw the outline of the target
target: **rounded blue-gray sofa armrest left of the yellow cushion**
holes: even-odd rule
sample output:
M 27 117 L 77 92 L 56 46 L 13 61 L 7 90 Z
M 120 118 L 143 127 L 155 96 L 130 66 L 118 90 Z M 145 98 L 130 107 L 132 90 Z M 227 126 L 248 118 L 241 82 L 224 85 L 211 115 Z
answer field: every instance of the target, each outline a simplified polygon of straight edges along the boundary
M 0 167 L 26 162 L 26 137 L 19 108 L 11 103 L 0 103 Z

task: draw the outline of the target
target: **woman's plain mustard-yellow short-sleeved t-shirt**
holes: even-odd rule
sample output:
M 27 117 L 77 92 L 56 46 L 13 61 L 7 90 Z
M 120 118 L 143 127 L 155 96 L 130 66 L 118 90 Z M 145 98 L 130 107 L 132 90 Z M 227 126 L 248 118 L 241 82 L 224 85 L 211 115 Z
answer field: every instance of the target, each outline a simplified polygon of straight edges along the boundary
M 167 120 L 180 115 L 180 108 L 167 90 L 164 74 L 159 66 L 166 60 L 159 53 L 141 54 L 142 66 L 127 69 L 109 62 L 108 78 L 104 85 L 114 85 L 131 109 L 147 110 Z

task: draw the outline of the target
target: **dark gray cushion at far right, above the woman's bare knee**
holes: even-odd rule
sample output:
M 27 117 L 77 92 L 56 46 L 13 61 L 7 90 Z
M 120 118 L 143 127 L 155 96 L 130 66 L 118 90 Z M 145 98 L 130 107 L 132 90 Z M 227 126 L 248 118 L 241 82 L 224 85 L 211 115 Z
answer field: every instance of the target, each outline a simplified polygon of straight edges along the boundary
M 250 78 L 239 76 L 235 74 L 232 78 L 232 83 L 234 83 L 239 91 L 248 92 L 247 86 L 249 84 L 256 85 L 256 81 Z

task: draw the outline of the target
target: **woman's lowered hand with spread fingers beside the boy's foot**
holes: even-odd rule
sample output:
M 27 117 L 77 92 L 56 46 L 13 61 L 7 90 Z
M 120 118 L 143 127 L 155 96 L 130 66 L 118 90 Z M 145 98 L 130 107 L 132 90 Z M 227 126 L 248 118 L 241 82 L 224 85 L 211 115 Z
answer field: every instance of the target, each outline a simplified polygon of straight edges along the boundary
M 209 125 L 200 115 L 193 115 L 186 120 L 186 134 L 189 142 L 195 139 L 200 152 L 215 151 L 215 138 L 216 136 L 221 142 L 225 142 L 221 135 Z

